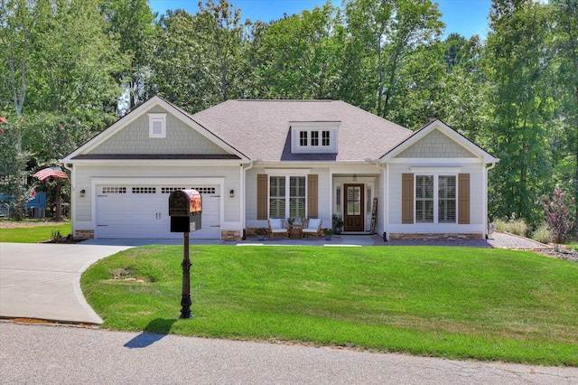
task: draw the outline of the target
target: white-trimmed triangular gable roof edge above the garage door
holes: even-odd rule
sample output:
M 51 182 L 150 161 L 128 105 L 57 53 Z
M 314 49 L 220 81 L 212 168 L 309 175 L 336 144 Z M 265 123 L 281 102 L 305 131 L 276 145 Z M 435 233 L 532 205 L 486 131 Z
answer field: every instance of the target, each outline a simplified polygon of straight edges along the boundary
M 123 128 L 130 125 L 134 122 L 137 118 L 142 117 L 152 108 L 160 107 L 166 110 L 168 113 L 172 114 L 172 116 L 177 117 L 182 122 L 184 122 L 188 127 L 191 127 L 192 130 L 200 134 L 200 136 L 204 136 L 206 139 L 210 140 L 210 142 L 214 143 L 216 146 L 219 146 L 221 149 L 226 151 L 228 155 L 172 155 L 172 154 L 117 154 L 117 155 L 99 155 L 99 154 L 89 154 L 92 150 L 100 146 L 101 144 L 105 143 L 109 138 L 115 136 L 119 131 Z M 191 115 L 187 114 L 181 108 L 177 108 L 169 101 L 159 97 L 154 96 L 151 99 L 145 101 L 142 105 L 138 106 L 130 113 L 128 113 L 125 117 L 121 117 L 117 120 L 115 124 L 108 127 L 104 131 L 102 131 L 97 136 L 90 139 L 87 143 L 83 146 L 77 148 L 74 152 L 70 155 L 67 155 L 64 159 L 61 160 L 62 164 L 71 164 L 74 163 L 76 160 L 160 160 L 160 159 L 215 159 L 215 160 L 223 160 L 223 159 L 230 159 L 230 160 L 240 160 L 242 162 L 247 162 L 247 156 L 242 154 L 238 151 L 237 148 L 234 146 L 230 146 L 227 142 L 223 141 L 219 136 L 216 136 L 210 130 L 206 129 L 205 127 L 200 126 L 199 123 L 194 121 Z

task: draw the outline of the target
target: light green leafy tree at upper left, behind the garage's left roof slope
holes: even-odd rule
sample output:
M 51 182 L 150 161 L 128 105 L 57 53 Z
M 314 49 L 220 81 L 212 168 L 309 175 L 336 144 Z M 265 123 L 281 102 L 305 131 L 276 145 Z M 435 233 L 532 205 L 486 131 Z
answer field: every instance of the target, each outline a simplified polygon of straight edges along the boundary
M 37 75 L 27 104 L 36 111 L 75 114 L 101 125 L 107 114 L 116 114 L 121 89 L 114 74 L 126 68 L 126 58 L 107 35 L 98 0 L 45 3 L 50 17 L 38 25 Z

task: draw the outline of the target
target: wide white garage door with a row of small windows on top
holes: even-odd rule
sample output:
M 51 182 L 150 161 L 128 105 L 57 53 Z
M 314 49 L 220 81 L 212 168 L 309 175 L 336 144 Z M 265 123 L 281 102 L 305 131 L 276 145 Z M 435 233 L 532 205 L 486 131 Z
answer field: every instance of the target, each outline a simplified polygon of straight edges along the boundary
M 97 238 L 182 239 L 171 232 L 169 195 L 187 189 L 202 196 L 202 229 L 191 232 L 191 239 L 219 239 L 219 186 L 202 185 L 97 186 Z

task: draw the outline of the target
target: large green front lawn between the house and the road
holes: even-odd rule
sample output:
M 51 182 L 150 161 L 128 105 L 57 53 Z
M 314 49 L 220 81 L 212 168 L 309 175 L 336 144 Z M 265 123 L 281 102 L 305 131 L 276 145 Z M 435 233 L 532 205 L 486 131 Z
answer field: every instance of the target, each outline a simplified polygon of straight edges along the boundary
M 502 249 L 129 249 L 82 276 L 103 327 L 578 366 L 578 264 Z M 135 277 L 144 283 L 114 279 Z

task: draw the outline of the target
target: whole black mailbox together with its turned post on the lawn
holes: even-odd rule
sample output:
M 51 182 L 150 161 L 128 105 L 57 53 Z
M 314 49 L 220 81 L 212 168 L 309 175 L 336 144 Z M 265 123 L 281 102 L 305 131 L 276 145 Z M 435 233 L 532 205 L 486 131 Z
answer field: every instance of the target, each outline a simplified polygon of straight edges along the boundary
M 171 232 L 182 232 L 182 298 L 181 317 L 192 318 L 191 313 L 191 259 L 189 233 L 200 230 L 202 199 L 196 190 L 177 190 L 169 195 Z

